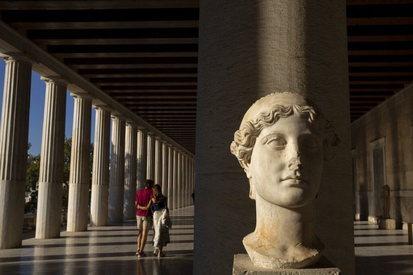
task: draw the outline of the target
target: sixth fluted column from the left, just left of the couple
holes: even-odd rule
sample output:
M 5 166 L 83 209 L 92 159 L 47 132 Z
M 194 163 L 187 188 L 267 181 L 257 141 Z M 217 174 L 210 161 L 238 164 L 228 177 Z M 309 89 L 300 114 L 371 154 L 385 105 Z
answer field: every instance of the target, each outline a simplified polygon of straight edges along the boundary
M 136 135 L 137 127 L 126 124 L 125 133 L 125 191 L 123 194 L 123 218 L 136 218 Z

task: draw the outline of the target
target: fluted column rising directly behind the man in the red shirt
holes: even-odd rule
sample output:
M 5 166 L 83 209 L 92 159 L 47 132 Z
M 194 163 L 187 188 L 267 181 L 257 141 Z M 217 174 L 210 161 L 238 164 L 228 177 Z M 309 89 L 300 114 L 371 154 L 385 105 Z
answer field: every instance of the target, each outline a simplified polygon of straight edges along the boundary
M 138 128 L 137 131 L 137 149 L 136 149 L 136 182 L 137 189 L 145 187 L 146 167 L 148 157 L 148 138 L 144 128 Z

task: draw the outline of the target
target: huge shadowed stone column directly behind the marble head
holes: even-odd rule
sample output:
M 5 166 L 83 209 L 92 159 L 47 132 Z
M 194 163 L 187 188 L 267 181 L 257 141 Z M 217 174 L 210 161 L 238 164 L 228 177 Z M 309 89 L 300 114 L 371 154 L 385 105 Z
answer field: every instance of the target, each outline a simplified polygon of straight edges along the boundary
M 194 274 L 230 273 L 234 254 L 245 253 L 255 203 L 230 144 L 250 105 L 281 91 L 310 98 L 341 138 L 324 165 L 316 227 L 323 254 L 354 273 L 347 59 L 345 1 L 200 2 Z

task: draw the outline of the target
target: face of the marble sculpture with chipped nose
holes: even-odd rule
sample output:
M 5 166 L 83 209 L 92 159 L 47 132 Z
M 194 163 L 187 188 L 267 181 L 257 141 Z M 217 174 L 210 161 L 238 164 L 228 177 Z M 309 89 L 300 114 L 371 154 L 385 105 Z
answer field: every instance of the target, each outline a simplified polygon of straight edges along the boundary
M 302 207 L 315 198 L 323 168 L 323 138 L 316 124 L 294 114 L 261 131 L 247 175 L 265 201 Z

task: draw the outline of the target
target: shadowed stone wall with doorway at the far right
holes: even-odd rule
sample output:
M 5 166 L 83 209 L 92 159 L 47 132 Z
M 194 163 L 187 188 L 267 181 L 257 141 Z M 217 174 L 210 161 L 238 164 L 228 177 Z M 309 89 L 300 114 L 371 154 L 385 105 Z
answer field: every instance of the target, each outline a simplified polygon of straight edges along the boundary
M 413 84 L 354 121 L 356 216 L 379 216 L 374 204 L 372 142 L 384 144 L 385 184 L 391 189 L 391 218 L 398 228 L 413 221 Z

